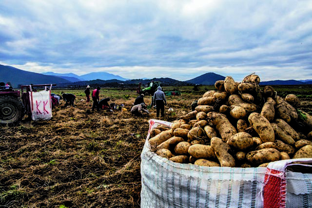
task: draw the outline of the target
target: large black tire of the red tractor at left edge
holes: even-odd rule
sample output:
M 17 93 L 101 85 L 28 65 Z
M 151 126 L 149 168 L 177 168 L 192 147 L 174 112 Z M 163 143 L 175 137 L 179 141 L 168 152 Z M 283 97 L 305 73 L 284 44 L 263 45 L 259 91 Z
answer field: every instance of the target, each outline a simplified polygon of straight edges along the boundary
M 20 121 L 24 111 L 24 105 L 18 97 L 0 96 L 0 124 Z

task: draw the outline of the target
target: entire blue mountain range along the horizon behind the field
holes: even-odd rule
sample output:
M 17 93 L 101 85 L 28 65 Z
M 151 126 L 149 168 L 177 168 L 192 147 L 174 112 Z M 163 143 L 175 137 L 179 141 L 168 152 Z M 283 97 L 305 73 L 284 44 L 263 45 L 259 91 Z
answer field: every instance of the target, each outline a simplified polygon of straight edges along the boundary
M 146 85 L 150 81 L 160 81 L 163 86 L 185 86 L 185 85 L 214 85 L 217 80 L 224 80 L 225 77 L 215 74 L 206 73 L 201 76 L 197 76 L 187 81 L 179 81 L 172 78 L 153 78 L 153 79 L 126 79 L 121 76 L 109 74 L 106 72 L 93 72 L 86 75 L 78 76 L 73 73 L 59 74 L 54 72 L 46 73 L 34 73 L 24 70 L 20 70 L 11 66 L 4 66 L 0 64 L 0 82 L 10 82 L 14 88 L 20 88 L 20 85 L 29 84 L 49 84 L 55 83 L 59 87 L 85 87 L 87 85 L 96 87 L 99 86 L 137 86 L 138 82 L 142 83 L 142 86 Z M 312 84 L 311 79 L 307 80 L 273 80 L 262 81 L 260 85 L 303 85 Z

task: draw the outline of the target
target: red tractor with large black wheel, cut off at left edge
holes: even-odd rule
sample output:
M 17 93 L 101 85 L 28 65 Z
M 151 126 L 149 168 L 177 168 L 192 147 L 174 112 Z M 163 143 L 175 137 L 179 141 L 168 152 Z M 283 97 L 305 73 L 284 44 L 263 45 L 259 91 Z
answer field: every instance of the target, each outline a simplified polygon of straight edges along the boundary
M 51 84 L 22 85 L 21 91 L 15 91 L 9 84 L 0 82 L 0 124 L 19 122 L 25 114 L 31 116 L 29 92 L 34 90 L 33 87 L 50 86 Z M 24 88 L 26 92 L 23 92 Z

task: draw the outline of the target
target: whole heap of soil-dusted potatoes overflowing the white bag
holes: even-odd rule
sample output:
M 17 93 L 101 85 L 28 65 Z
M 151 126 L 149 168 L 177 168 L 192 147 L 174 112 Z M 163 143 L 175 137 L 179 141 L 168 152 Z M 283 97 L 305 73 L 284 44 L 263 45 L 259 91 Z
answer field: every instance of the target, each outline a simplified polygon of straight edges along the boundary
M 276 160 L 312 158 L 312 116 L 298 111 L 296 95 L 285 99 L 257 75 L 240 83 L 231 76 L 198 99 L 195 111 L 171 129 L 150 132 L 156 154 L 177 163 L 217 167 L 266 167 Z M 299 113 L 299 114 L 298 114 Z

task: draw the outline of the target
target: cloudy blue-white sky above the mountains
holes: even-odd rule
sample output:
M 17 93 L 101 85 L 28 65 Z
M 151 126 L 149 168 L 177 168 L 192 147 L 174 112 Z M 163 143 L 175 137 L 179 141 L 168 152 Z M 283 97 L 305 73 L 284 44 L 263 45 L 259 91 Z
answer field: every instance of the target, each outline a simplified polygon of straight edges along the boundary
M 0 0 L 0 64 L 125 78 L 312 79 L 312 0 Z

